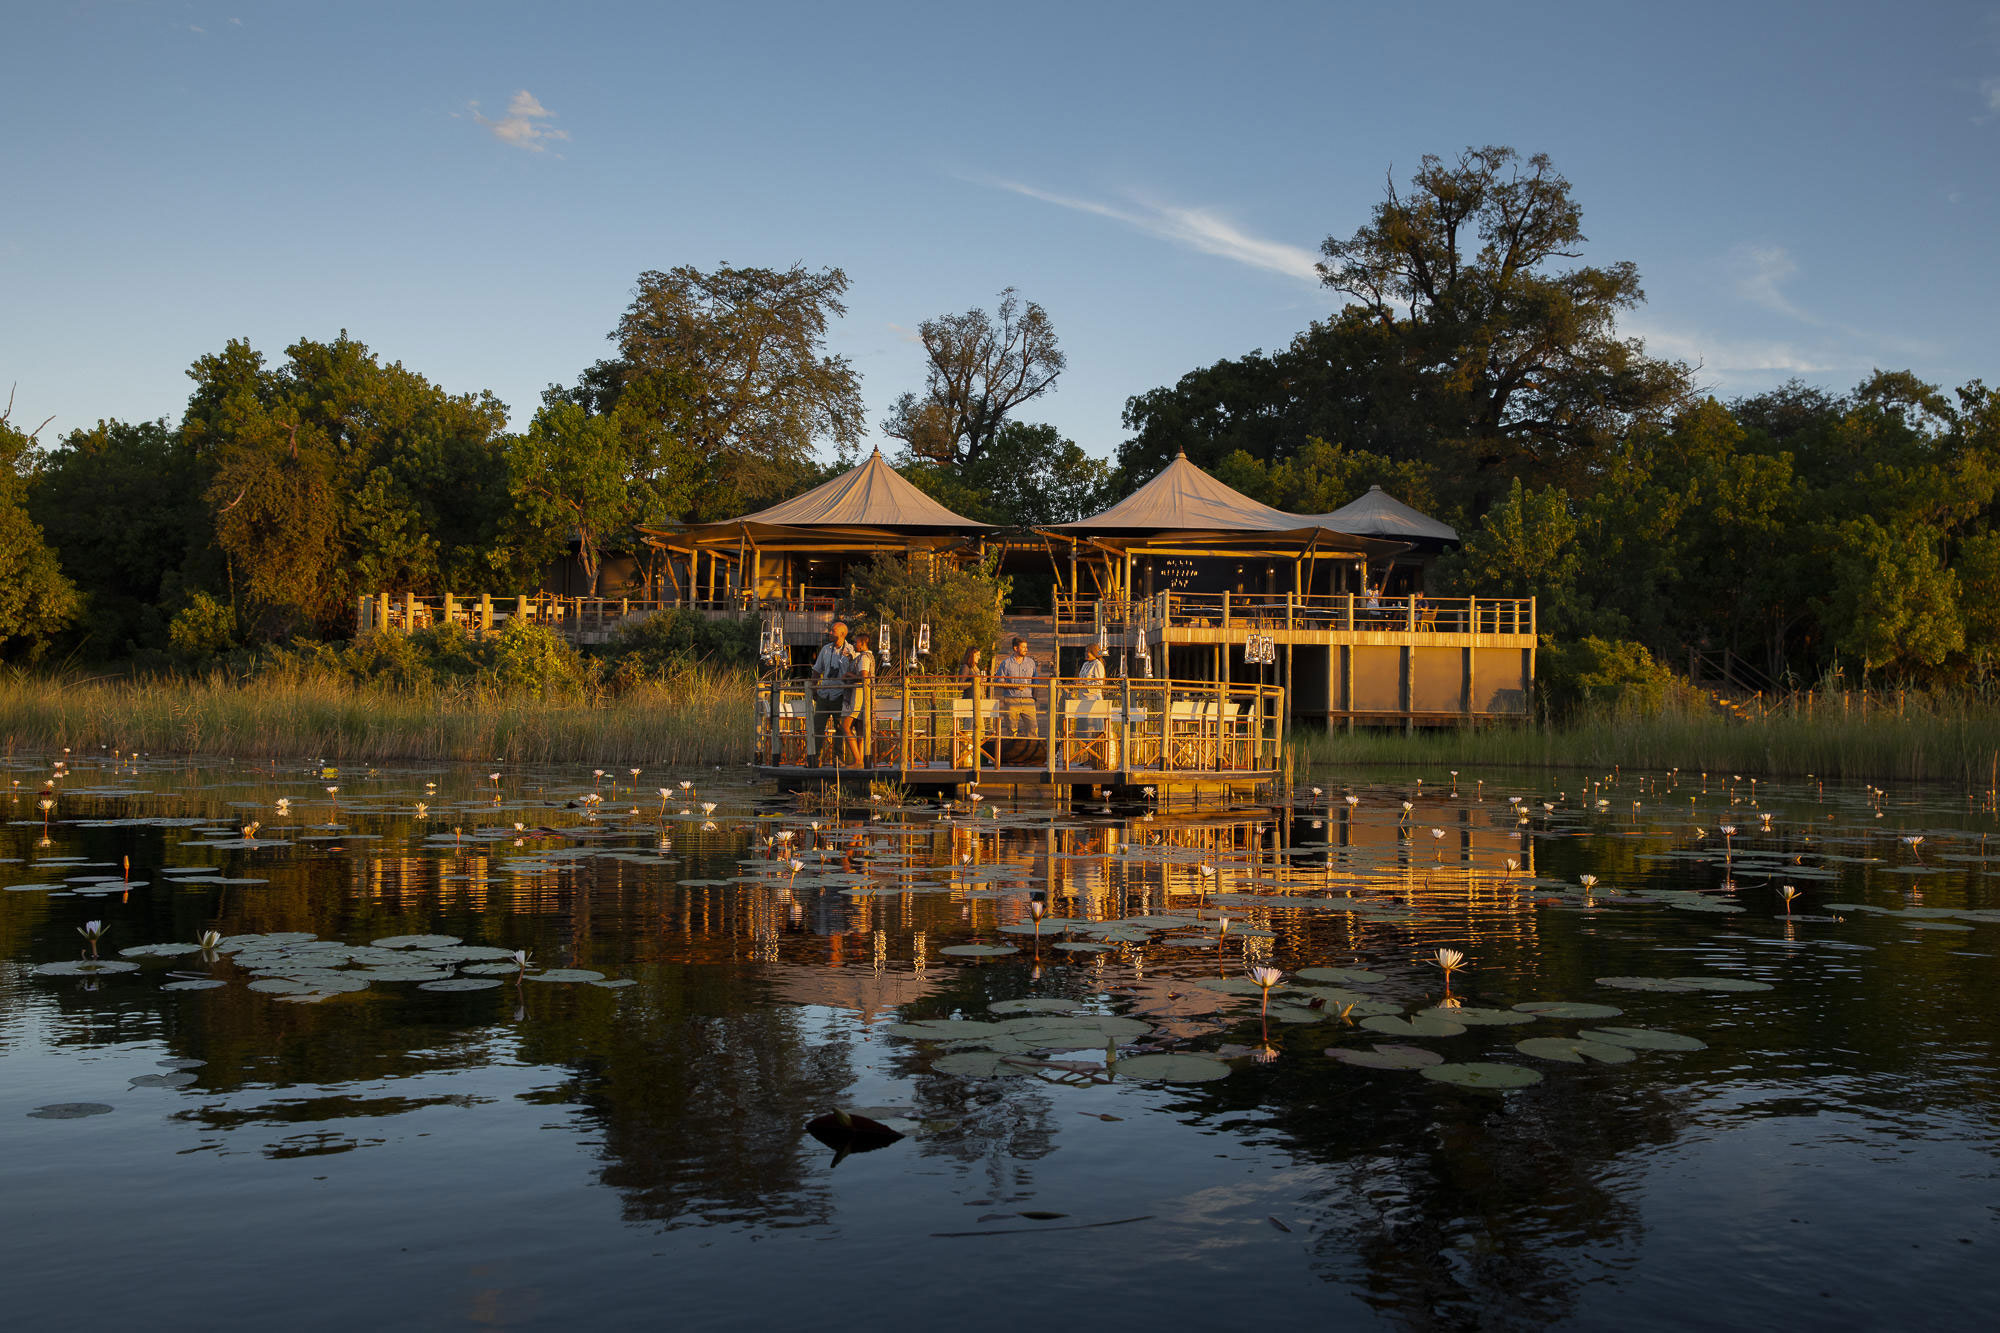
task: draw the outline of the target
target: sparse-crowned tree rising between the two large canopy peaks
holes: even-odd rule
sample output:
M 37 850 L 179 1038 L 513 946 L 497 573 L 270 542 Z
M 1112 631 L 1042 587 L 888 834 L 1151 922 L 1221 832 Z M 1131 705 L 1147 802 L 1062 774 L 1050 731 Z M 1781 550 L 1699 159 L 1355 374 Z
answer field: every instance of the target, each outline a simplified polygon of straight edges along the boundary
M 1000 292 L 998 320 L 986 310 L 918 324 L 928 360 L 924 394 L 902 394 L 882 430 L 928 462 L 964 468 L 998 438 L 1008 414 L 1056 386 L 1068 358 L 1056 326 L 1014 288 Z

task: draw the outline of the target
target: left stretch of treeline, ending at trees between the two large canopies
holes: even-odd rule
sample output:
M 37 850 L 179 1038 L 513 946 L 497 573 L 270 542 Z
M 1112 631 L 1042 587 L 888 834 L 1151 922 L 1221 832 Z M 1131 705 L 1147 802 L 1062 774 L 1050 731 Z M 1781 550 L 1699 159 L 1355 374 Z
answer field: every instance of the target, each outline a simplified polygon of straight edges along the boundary
M 202 356 L 180 422 L 38 446 L 0 416 L 0 650 L 192 664 L 342 640 L 364 592 L 516 594 L 572 550 L 592 578 L 606 550 L 656 574 L 638 524 L 726 518 L 852 466 L 860 378 L 826 350 L 844 292 L 838 268 L 646 272 L 616 356 L 550 386 L 518 432 L 490 392 L 346 332 L 278 362 L 248 342 Z M 948 388 L 884 422 L 922 484 L 994 522 L 1102 504 L 1106 462 L 1010 418 L 1062 370 L 1040 306 L 1002 292 L 998 320 L 924 338 Z

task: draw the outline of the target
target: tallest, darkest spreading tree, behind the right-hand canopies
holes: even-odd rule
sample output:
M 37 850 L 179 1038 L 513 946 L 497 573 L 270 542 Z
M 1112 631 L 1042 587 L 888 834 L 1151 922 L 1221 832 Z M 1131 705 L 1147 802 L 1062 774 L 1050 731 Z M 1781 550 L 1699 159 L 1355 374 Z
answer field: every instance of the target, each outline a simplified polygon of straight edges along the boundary
M 1252 352 L 1126 402 L 1132 482 L 1176 450 L 1278 464 L 1318 436 L 1436 470 L 1476 518 L 1512 476 L 1586 494 L 1602 458 L 1686 398 L 1686 366 L 1646 356 L 1616 318 L 1644 294 L 1632 264 L 1568 266 L 1582 212 L 1546 156 L 1426 156 L 1372 218 L 1322 246 L 1346 296 L 1272 356 Z

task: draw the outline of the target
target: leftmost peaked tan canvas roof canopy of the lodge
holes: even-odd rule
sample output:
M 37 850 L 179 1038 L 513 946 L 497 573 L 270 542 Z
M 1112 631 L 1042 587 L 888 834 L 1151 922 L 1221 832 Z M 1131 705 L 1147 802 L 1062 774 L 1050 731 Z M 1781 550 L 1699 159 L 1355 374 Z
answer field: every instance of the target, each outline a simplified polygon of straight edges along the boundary
M 940 538 L 964 538 L 990 532 L 990 522 L 954 514 L 888 464 L 882 450 L 820 482 L 804 494 L 780 500 L 742 518 L 720 522 L 690 522 L 676 528 L 644 528 L 656 544 L 714 544 L 718 540 L 782 542 L 844 542 L 866 538 L 896 538 L 894 544 L 936 546 Z

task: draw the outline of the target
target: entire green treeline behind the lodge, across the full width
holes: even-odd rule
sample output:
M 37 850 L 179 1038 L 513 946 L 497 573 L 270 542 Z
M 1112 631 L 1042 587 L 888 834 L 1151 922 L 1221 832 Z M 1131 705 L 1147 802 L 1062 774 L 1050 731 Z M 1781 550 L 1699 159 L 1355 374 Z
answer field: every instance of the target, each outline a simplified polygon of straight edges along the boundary
M 880 428 L 906 476 L 992 522 L 1090 514 L 1176 450 L 1294 512 L 1382 484 L 1464 534 L 1438 590 L 1538 596 L 1584 683 L 1658 683 L 1690 650 L 1778 685 L 1988 681 L 2000 394 L 1876 372 L 1720 402 L 1618 334 L 1638 270 L 1584 246 L 1548 158 L 1426 158 L 1322 246 L 1328 318 L 1130 398 L 1116 462 L 1022 420 L 1066 356 L 1012 288 L 922 322 L 926 384 Z M 178 424 L 38 448 L 0 420 L 0 650 L 200 660 L 344 638 L 358 592 L 518 592 L 570 548 L 590 572 L 604 550 L 644 564 L 636 524 L 748 512 L 852 464 L 860 378 L 826 348 L 846 286 L 640 274 L 614 354 L 518 432 L 492 394 L 346 334 L 280 362 L 230 342 L 190 368 Z

